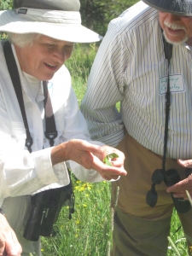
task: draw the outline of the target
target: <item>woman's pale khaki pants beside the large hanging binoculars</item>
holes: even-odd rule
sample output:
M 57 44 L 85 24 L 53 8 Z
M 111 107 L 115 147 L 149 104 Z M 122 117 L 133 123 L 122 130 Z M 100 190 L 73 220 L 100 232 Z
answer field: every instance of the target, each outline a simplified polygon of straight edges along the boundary
M 26 221 L 31 207 L 30 196 L 9 197 L 3 201 L 3 210 L 10 226 L 15 230 L 22 247 L 22 256 L 41 255 L 40 240 L 28 241 L 23 237 Z M 30 254 L 31 253 L 31 254 Z

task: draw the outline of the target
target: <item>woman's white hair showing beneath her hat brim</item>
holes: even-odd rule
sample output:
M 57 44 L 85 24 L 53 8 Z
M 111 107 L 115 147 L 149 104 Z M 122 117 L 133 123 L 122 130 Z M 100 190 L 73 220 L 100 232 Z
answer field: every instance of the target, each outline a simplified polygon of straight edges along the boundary
M 33 40 L 38 39 L 40 34 L 38 33 L 26 33 L 26 34 L 17 34 L 8 32 L 8 39 L 11 44 L 16 44 L 18 47 L 22 48 L 26 45 L 32 46 Z

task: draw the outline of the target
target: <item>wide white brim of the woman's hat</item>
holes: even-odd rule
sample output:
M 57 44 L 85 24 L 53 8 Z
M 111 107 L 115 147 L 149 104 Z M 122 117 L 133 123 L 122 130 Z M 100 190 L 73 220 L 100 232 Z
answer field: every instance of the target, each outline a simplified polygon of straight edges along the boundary
M 25 20 L 15 15 L 14 10 L 0 11 L 0 32 L 14 32 L 19 34 L 39 33 L 49 38 L 73 43 L 92 43 L 102 40 L 99 34 L 81 24 Z

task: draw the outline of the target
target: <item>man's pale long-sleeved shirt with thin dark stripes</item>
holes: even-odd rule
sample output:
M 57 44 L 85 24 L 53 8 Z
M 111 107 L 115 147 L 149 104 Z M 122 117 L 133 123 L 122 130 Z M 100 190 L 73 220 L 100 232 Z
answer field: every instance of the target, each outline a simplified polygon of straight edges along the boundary
M 173 46 L 167 156 L 192 158 L 192 53 Z M 81 105 L 91 137 L 116 146 L 125 129 L 163 154 L 168 66 L 158 11 L 139 2 L 112 20 L 97 52 Z M 120 103 L 120 113 L 115 108 Z

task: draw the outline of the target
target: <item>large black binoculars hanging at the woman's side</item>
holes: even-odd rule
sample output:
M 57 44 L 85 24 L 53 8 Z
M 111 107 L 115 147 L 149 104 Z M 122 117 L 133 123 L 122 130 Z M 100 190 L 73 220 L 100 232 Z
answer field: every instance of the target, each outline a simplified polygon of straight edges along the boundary
M 38 241 L 39 236 L 51 236 L 61 207 L 69 207 L 69 219 L 74 212 L 72 184 L 58 189 L 49 189 L 31 196 L 32 209 L 24 230 L 24 238 Z

